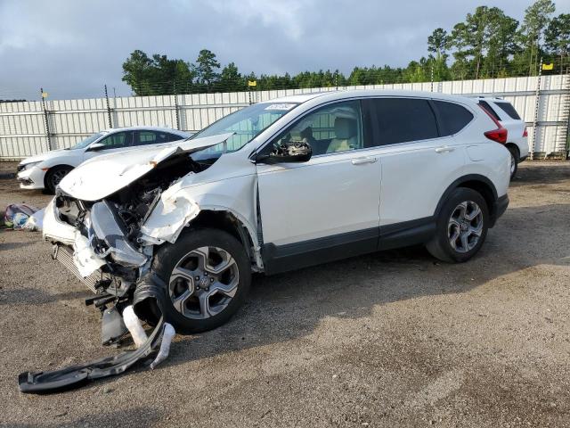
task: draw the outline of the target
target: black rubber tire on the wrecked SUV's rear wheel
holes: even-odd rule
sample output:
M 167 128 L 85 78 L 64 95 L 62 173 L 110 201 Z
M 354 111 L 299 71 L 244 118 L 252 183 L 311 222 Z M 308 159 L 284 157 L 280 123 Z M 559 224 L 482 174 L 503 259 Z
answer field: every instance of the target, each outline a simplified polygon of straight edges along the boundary
M 452 243 L 450 242 L 452 241 L 453 236 L 452 231 L 456 229 L 458 233 L 461 233 L 463 229 L 460 229 L 455 225 L 451 225 L 451 220 L 452 215 L 455 215 L 455 213 L 458 212 L 457 209 L 462 202 L 474 202 L 479 207 L 481 211 L 482 218 L 480 218 L 480 220 L 482 221 L 482 224 L 480 225 L 480 235 L 476 238 L 476 241 L 475 235 L 471 235 L 472 240 L 468 243 L 467 248 L 458 249 L 453 248 Z M 468 206 L 473 208 L 475 205 L 469 204 Z M 479 219 L 478 216 L 477 219 Z M 426 245 L 426 248 L 436 259 L 440 259 L 448 263 L 461 263 L 471 259 L 476 252 L 481 249 L 483 243 L 485 243 L 489 224 L 489 209 L 485 202 L 485 198 L 481 193 L 466 187 L 458 187 L 444 203 L 436 221 L 436 236 L 434 236 L 434 239 Z M 468 223 L 467 220 L 464 221 Z M 468 226 L 471 226 L 471 224 L 468 223 L 466 227 L 468 228 Z M 479 225 L 477 224 L 476 226 Z M 465 233 L 467 234 L 468 232 Z M 456 244 L 457 239 L 460 239 L 460 237 L 458 236 L 458 238 L 454 240 Z M 474 244 L 474 246 L 469 249 L 469 245 L 471 244 Z

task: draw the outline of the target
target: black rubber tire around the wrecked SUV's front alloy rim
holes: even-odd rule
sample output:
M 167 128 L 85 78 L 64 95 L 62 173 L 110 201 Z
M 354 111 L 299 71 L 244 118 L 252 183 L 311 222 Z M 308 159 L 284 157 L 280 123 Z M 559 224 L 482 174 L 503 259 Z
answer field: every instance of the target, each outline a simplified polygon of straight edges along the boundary
M 183 313 L 175 309 L 170 289 L 172 287 L 170 277 L 173 269 L 184 257 L 187 257 L 191 251 L 201 247 L 217 247 L 229 253 L 239 269 L 239 282 L 235 295 L 224 309 L 212 317 L 195 319 L 186 317 Z M 153 260 L 152 270 L 167 284 L 167 300 L 164 315 L 167 322 L 174 325 L 178 333 L 191 334 L 205 332 L 223 325 L 243 304 L 251 284 L 251 264 L 243 245 L 232 235 L 219 229 L 204 228 L 185 231 L 175 243 L 165 244 L 160 247 Z M 192 281 L 192 283 L 194 283 L 194 281 Z M 186 281 L 184 284 L 188 284 L 188 282 Z M 195 286 L 199 286 L 199 284 L 192 285 L 192 287 Z M 204 290 L 208 289 L 202 287 L 202 292 Z M 196 293 L 196 290 L 192 293 Z

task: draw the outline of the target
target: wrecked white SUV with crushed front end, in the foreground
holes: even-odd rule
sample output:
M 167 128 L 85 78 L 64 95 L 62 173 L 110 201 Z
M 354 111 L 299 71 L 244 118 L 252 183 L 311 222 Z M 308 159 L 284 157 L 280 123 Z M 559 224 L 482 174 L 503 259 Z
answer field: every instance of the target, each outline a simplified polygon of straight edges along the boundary
M 290 96 L 183 142 L 86 161 L 61 180 L 44 235 L 97 306 L 136 308 L 154 287 L 177 331 L 204 331 L 240 307 L 252 272 L 414 244 L 470 259 L 509 203 L 506 141 L 464 97 Z

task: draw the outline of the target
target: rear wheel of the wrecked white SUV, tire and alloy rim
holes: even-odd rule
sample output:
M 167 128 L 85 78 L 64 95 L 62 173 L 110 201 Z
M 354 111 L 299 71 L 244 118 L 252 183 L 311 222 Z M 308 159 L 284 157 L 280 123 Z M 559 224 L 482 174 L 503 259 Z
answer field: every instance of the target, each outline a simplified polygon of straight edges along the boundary
M 471 259 L 485 242 L 489 210 L 481 193 L 455 189 L 439 213 L 436 236 L 426 245 L 436 259 L 450 263 Z

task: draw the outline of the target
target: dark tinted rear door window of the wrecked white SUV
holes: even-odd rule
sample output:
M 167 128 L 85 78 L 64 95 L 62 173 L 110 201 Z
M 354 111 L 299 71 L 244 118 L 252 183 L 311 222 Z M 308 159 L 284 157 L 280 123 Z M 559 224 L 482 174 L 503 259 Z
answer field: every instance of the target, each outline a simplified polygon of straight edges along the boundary
M 398 144 L 437 138 L 436 115 L 428 100 L 414 98 L 377 98 L 376 128 L 378 144 Z

